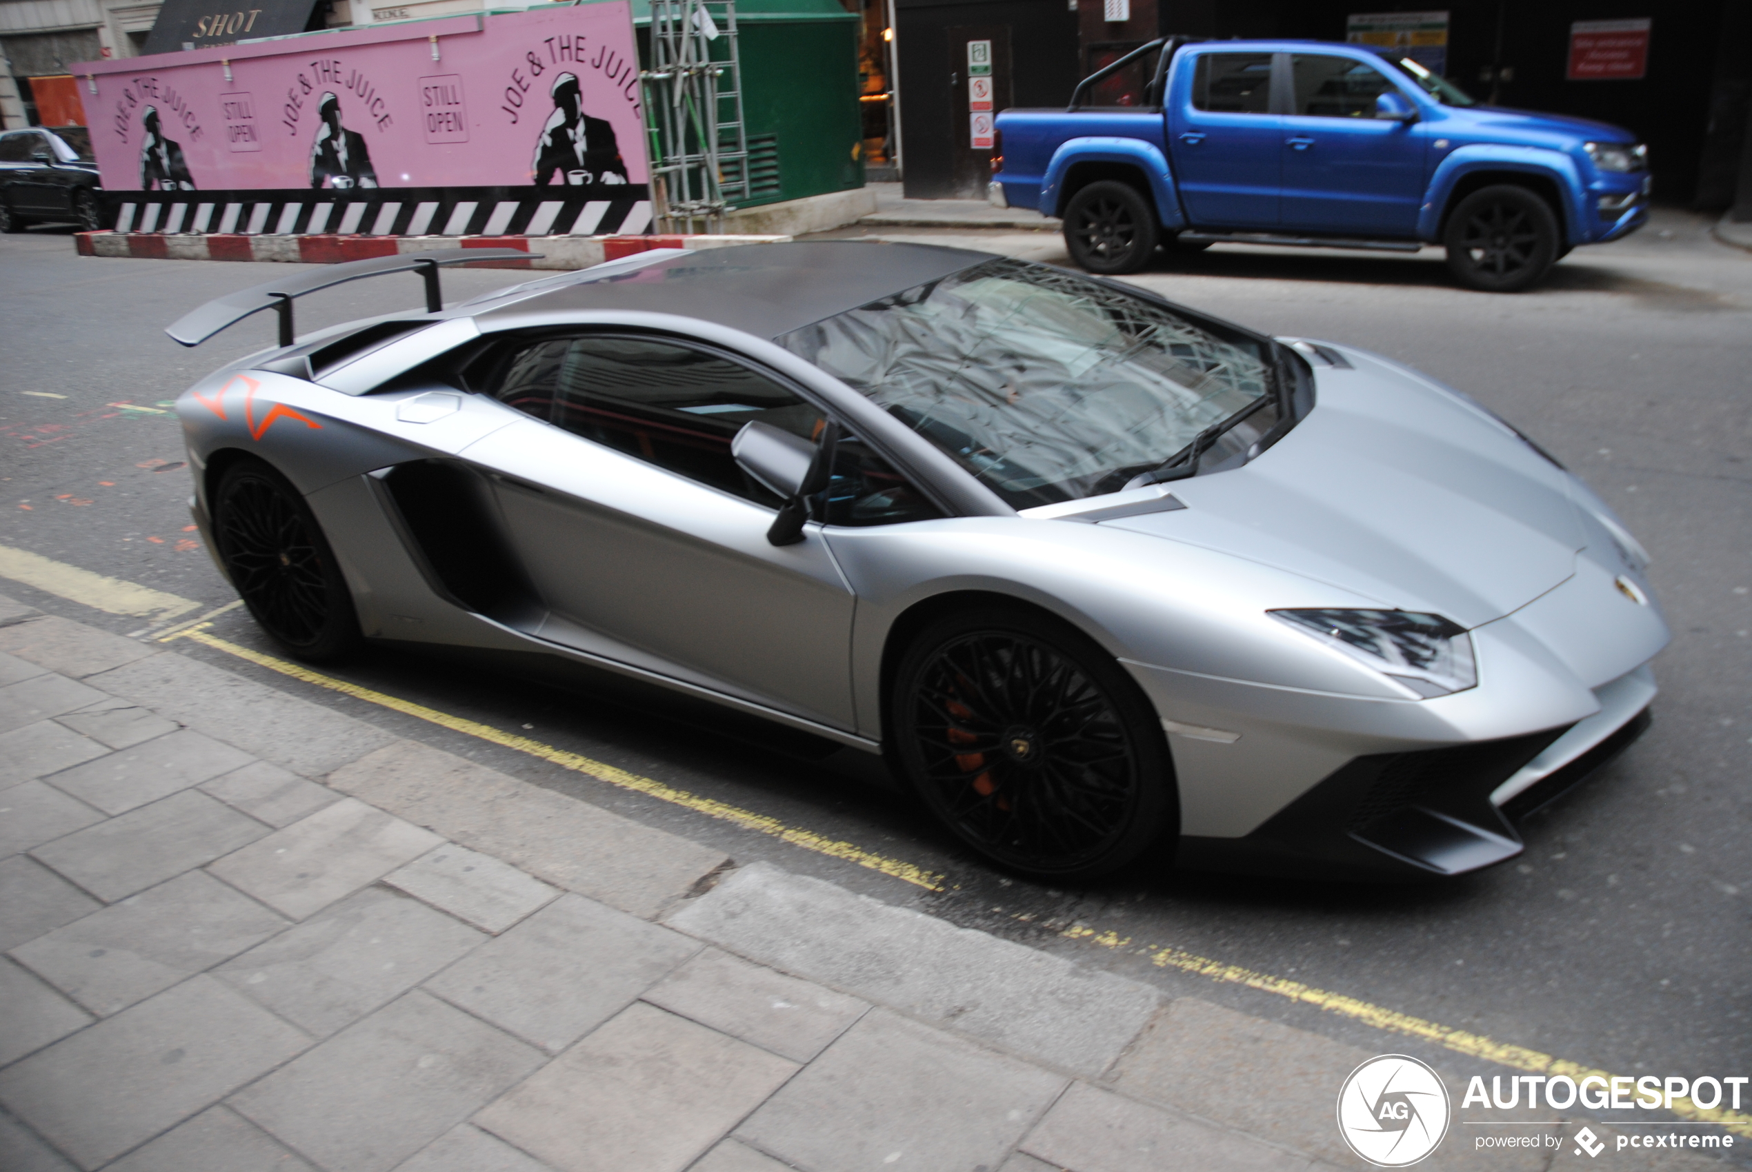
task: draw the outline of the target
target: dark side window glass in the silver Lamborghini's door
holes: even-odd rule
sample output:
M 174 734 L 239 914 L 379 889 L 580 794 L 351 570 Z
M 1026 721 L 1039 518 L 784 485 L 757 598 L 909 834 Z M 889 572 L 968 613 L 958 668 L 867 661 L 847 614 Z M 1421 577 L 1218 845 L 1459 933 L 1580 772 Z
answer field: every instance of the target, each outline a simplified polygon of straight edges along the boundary
M 820 408 L 766 375 L 655 338 L 538 342 L 501 370 L 492 394 L 506 406 L 773 508 L 780 499 L 743 473 L 731 440 L 753 419 L 809 440 L 825 426 Z

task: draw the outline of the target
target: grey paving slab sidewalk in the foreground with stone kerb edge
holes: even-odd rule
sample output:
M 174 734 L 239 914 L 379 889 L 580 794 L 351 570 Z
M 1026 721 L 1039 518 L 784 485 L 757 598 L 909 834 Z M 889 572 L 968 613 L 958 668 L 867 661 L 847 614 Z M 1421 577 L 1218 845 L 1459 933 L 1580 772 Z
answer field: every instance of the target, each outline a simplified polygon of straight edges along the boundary
M 734 867 L 175 645 L 0 597 L 0 715 L 7 1172 L 1361 1167 L 1360 1049 Z

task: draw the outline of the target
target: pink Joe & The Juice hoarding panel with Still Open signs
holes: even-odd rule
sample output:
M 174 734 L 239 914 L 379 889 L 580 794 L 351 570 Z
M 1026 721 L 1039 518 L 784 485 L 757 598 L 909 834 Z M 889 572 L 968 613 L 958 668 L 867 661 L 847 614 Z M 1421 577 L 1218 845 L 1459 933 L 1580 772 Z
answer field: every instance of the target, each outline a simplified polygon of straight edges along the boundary
M 72 72 L 109 191 L 646 182 L 627 0 Z

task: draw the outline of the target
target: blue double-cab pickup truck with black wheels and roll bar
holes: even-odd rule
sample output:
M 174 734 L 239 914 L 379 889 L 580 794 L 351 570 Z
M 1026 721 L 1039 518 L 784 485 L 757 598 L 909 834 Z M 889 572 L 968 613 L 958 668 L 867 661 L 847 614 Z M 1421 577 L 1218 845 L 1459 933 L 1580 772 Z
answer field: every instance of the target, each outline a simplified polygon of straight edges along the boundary
M 1121 68 L 1144 105 L 1086 107 Z M 992 201 L 1065 224 L 1093 273 L 1218 242 L 1416 252 L 1514 293 L 1647 219 L 1649 158 L 1617 126 L 1473 102 L 1417 61 L 1307 40 L 1153 40 L 1065 110 L 997 117 Z

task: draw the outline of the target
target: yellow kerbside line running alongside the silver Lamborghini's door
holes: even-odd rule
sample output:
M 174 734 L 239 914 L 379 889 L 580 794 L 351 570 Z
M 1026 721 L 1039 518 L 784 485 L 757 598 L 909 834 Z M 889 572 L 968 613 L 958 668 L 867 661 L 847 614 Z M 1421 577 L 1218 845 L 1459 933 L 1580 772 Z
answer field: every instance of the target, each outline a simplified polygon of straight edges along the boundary
M 391 711 L 403 713 L 406 717 L 417 717 L 427 720 L 442 729 L 450 729 L 452 732 L 463 732 L 482 741 L 491 741 L 505 748 L 515 748 L 519 753 L 529 753 L 531 757 L 540 757 L 541 760 L 554 762 L 573 773 L 582 773 L 610 785 L 620 787 L 624 790 L 632 790 L 636 794 L 645 794 L 646 797 L 655 797 L 657 801 L 669 802 L 671 806 L 682 806 L 683 809 L 692 809 L 694 813 L 706 815 L 708 818 L 717 818 L 720 822 L 729 822 L 743 827 L 745 830 L 759 830 L 760 834 L 771 834 L 773 837 L 790 843 L 792 846 L 801 846 L 802 850 L 815 851 L 818 855 L 827 855 L 830 858 L 843 858 L 846 862 L 855 862 L 860 867 L 869 867 L 871 871 L 880 871 L 883 874 L 894 876 L 915 886 L 922 886 L 927 892 L 943 890 L 943 876 L 932 874 L 922 867 L 915 867 L 909 862 L 901 862 L 899 858 L 888 858 L 887 855 L 878 855 L 867 851 L 862 846 L 853 846 L 851 843 L 841 843 L 830 839 L 815 830 L 804 830 L 802 827 L 787 827 L 778 818 L 769 818 L 766 815 L 757 815 L 752 809 L 741 809 L 727 802 L 720 802 L 713 797 L 701 797 L 697 794 L 689 794 L 687 790 L 678 790 L 662 781 L 653 781 L 652 778 L 641 778 L 636 773 L 627 773 L 625 769 L 617 769 L 601 760 L 590 760 L 580 753 L 569 753 L 562 748 L 552 745 L 543 745 L 527 736 L 517 736 L 515 732 L 503 732 L 492 725 L 480 724 L 477 720 L 468 720 L 464 717 L 452 717 L 450 713 L 442 713 L 436 708 L 426 708 L 424 704 L 415 704 L 413 701 L 405 701 L 396 695 L 387 695 L 384 692 L 373 692 L 371 688 L 359 687 L 357 683 L 347 683 L 345 680 L 336 680 L 333 676 L 324 676 L 317 671 L 310 671 L 300 664 L 277 659 L 273 655 L 265 655 L 258 650 L 230 643 L 214 634 L 203 631 L 198 624 L 186 631 L 175 634 L 159 636 L 161 643 L 170 643 L 172 639 L 194 639 L 203 646 L 210 646 L 228 655 L 237 655 L 238 659 L 247 659 L 252 664 L 268 667 L 270 671 L 279 671 L 282 676 L 291 676 L 293 680 L 303 680 L 305 683 L 314 683 L 321 688 L 329 688 L 331 692 L 340 692 L 342 695 L 352 695 L 380 708 L 389 708 Z

